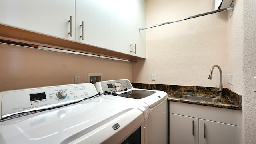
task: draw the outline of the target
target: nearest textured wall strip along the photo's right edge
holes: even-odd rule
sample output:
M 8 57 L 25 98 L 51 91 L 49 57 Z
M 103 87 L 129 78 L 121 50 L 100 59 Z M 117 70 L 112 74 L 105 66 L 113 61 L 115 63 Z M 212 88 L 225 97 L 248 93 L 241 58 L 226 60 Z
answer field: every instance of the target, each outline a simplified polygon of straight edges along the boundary
M 256 142 L 256 0 L 243 1 L 244 19 L 244 92 L 243 92 L 243 124 L 244 144 Z

